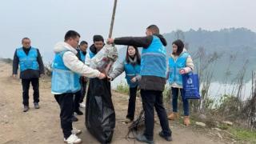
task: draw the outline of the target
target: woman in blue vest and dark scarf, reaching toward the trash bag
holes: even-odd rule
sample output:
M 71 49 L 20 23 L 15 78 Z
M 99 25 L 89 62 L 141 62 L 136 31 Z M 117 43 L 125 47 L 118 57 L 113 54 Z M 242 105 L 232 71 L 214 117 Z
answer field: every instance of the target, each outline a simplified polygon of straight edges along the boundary
M 138 47 L 127 46 L 126 60 L 113 70 L 109 76 L 110 80 L 118 77 L 123 71 L 126 72 L 126 81 L 130 87 L 130 98 L 125 121 L 126 123 L 129 123 L 134 120 L 136 94 L 138 90 L 138 81 L 140 79 L 139 73 L 141 71 L 141 56 L 138 53 Z

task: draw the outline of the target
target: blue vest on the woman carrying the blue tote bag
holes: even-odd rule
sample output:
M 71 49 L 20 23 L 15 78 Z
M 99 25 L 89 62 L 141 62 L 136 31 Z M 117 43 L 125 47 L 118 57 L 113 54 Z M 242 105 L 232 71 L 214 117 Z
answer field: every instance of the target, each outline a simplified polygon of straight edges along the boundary
M 169 75 L 169 83 L 177 83 L 179 86 L 182 86 L 182 74 L 179 74 L 179 70 L 186 67 L 186 58 L 189 56 L 188 53 L 181 54 L 176 60 L 174 58 L 169 58 L 169 67 L 170 67 L 170 75 Z

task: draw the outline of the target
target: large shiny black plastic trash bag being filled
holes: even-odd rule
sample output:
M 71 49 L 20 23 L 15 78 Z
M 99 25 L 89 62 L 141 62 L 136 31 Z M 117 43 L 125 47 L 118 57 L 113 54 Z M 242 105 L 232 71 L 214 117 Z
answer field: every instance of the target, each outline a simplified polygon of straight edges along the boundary
M 91 78 L 86 96 L 86 128 L 101 143 L 112 140 L 115 126 L 110 82 Z

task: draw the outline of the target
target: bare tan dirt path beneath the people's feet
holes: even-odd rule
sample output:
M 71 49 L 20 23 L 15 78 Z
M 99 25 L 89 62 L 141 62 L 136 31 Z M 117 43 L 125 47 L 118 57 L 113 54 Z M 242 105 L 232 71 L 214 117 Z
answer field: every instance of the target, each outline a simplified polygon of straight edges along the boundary
M 63 143 L 62 131 L 59 122 L 59 107 L 50 94 L 50 82 L 40 83 L 39 110 L 33 107 L 33 90 L 30 87 L 30 110 L 22 112 L 22 86 L 19 80 L 10 78 L 11 66 L 0 62 L 0 144 L 47 144 Z M 127 125 L 122 121 L 126 116 L 127 96 L 113 93 L 114 108 L 116 110 L 116 128 L 114 130 L 114 144 L 134 143 L 134 140 L 125 139 Z M 141 103 L 138 102 L 137 106 Z M 137 112 L 138 113 L 138 112 Z M 74 127 L 82 129 L 83 143 L 98 143 L 85 128 L 84 115 L 78 116 L 79 121 L 74 122 Z M 173 130 L 173 142 L 166 142 L 158 136 L 160 126 L 155 124 L 155 143 L 173 144 L 203 144 L 225 143 L 218 138 L 210 138 L 202 132 L 178 123 L 170 123 Z M 135 142 L 140 143 L 140 142 Z

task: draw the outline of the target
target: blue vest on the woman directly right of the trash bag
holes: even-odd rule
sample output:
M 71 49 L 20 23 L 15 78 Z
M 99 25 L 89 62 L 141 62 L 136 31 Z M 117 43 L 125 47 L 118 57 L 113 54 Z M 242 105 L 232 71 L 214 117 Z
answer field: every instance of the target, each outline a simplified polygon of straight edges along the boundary
M 133 66 L 132 64 L 127 63 L 127 62 L 124 62 L 124 64 L 125 64 L 124 68 L 125 68 L 125 72 L 126 72 L 126 81 L 127 81 L 128 85 L 130 87 L 138 86 L 138 82 L 130 82 L 130 80 L 140 74 L 141 66 L 138 64 Z

